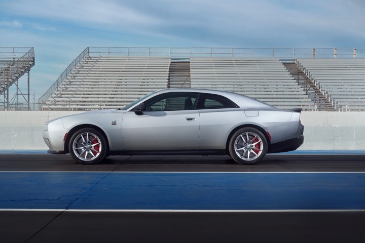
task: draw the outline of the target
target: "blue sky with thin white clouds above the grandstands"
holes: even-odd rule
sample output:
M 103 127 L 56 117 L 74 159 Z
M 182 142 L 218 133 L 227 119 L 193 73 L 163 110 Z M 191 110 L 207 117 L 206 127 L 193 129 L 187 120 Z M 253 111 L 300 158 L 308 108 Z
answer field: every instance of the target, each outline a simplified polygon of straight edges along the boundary
M 364 13 L 362 0 L 0 0 L 0 48 L 34 47 L 38 101 L 86 47 L 363 49 Z

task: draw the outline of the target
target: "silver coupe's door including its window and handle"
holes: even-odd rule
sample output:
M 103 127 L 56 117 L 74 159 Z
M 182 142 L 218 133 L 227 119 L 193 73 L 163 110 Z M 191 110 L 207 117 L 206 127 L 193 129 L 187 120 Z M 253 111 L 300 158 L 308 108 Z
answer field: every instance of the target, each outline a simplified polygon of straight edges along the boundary
M 125 150 L 196 149 L 200 116 L 195 93 L 165 93 L 144 104 L 143 114 L 124 114 L 122 136 Z

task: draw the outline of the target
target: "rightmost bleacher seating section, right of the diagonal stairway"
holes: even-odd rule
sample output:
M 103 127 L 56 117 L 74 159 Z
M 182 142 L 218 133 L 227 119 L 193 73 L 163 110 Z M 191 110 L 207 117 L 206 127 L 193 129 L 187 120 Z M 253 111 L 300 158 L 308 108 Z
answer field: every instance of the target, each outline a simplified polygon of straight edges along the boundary
M 298 65 L 328 92 L 340 109 L 365 109 L 365 59 L 298 59 Z

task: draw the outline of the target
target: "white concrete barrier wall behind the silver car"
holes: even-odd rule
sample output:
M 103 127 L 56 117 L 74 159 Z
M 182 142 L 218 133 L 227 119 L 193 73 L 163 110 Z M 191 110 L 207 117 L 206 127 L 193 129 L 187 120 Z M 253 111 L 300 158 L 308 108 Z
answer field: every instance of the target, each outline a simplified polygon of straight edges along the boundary
M 48 150 L 46 121 L 76 111 L 0 111 L 0 150 Z M 365 150 L 365 112 L 306 112 L 301 115 L 302 150 Z

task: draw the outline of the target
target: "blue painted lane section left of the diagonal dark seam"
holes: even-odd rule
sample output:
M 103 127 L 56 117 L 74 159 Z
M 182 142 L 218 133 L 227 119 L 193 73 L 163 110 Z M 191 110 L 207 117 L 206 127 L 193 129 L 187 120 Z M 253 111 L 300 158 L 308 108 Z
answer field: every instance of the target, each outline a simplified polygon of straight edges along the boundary
M 0 208 L 67 209 L 109 173 L 0 173 Z

